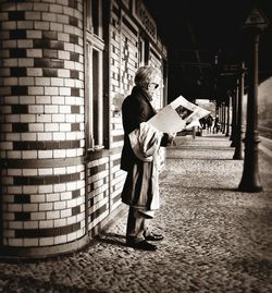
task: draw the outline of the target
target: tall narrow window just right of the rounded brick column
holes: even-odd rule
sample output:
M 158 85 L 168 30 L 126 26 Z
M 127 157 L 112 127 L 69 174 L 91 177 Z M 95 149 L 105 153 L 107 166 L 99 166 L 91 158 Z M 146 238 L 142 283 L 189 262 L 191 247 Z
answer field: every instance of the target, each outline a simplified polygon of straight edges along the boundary
M 92 1 L 98 4 L 98 35 L 95 34 L 91 22 Z M 85 14 L 85 130 L 86 130 L 86 149 L 94 151 L 104 148 L 104 100 L 103 100 L 103 51 L 104 40 L 102 39 L 102 0 L 86 1 Z M 97 60 L 94 56 L 97 54 Z M 95 62 L 97 61 L 97 62 Z M 96 68 L 95 68 L 96 65 Z M 94 86 L 94 72 L 96 72 L 97 86 Z M 96 90 L 96 93 L 94 91 Z M 95 95 L 97 99 L 97 109 L 95 109 Z M 95 111 L 97 111 L 95 113 Z M 97 117 L 97 119 L 95 119 Z

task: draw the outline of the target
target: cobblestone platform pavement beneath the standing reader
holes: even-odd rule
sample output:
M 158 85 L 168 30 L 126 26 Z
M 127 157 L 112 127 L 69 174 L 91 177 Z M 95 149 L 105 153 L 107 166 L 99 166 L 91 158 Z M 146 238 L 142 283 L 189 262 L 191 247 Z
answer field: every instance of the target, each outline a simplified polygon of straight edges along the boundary
M 181 137 L 161 173 L 150 222 L 157 252 L 124 245 L 126 213 L 85 251 L 0 261 L 0 292 L 272 292 L 272 158 L 259 154 L 261 193 L 236 188 L 243 160 L 220 135 Z

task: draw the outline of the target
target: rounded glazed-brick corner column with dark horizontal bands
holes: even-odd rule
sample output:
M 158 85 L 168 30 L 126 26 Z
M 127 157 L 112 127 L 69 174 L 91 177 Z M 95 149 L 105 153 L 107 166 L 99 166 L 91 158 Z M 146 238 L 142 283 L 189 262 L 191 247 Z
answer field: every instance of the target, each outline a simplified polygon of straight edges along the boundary
M 73 251 L 86 241 L 83 0 L 0 11 L 1 253 Z

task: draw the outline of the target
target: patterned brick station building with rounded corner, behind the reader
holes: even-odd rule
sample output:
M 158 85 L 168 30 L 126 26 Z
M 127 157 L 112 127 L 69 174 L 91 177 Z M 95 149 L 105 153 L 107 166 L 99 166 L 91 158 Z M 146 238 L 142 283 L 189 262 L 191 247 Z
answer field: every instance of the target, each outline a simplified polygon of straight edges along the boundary
M 0 252 L 76 251 L 122 210 L 121 105 L 166 48 L 143 1 L 0 0 Z

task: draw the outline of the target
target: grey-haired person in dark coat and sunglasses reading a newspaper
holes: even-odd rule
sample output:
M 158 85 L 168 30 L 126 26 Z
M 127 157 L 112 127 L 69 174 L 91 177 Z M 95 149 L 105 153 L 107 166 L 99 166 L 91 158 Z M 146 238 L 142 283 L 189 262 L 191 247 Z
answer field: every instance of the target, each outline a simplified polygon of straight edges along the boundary
M 129 206 L 126 244 L 131 247 L 156 251 L 149 241 L 160 241 L 161 234 L 150 231 L 147 219 L 159 208 L 159 148 L 171 144 L 174 135 L 158 131 L 146 123 L 156 114 L 150 101 L 161 83 L 161 73 L 152 66 L 139 68 L 135 86 L 122 105 L 124 146 L 121 169 L 127 172 L 122 202 Z

